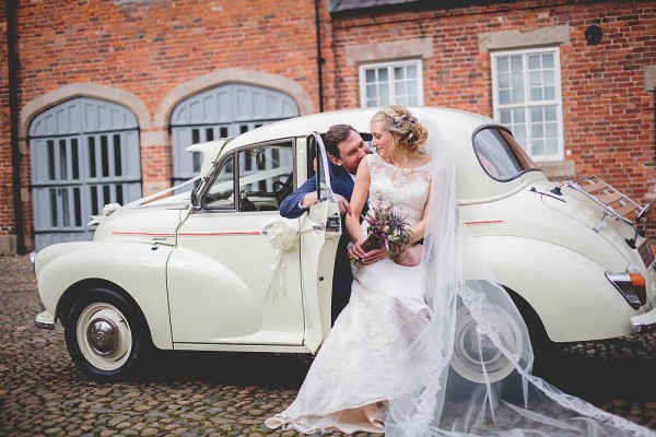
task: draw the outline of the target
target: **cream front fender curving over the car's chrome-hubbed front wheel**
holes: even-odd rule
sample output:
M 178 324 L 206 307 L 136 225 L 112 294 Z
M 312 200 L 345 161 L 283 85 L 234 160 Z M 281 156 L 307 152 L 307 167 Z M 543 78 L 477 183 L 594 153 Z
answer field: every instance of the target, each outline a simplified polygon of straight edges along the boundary
M 38 252 L 35 272 L 40 299 L 61 318 L 72 302 L 95 286 L 125 293 L 143 312 L 153 344 L 173 349 L 166 262 L 172 248 L 139 243 L 77 241 Z

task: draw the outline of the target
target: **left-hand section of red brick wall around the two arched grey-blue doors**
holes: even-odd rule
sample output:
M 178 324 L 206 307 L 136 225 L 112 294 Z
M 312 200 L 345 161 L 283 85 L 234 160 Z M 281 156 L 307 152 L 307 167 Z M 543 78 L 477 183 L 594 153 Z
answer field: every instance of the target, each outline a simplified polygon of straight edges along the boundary
M 19 0 L 16 0 L 19 1 Z M 93 82 L 137 95 L 151 118 L 172 88 L 216 70 L 235 68 L 295 81 L 318 104 L 315 10 L 296 0 L 20 0 L 20 108 L 77 82 Z M 2 7 L 2 13 L 3 11 Z M 329 17 L 321 2 L 323 21 Z M 3 17 L 3 15 L 2 15 Z M 4 17 L 2 20 L 4 26 Z M 2 29 L 4 27 L 1 27 Z M 4 33 L 0 35 L 0 106 L 8 115 Z M 0 125 L 0 172 L 11 176 L 9 123 Z M 172 177 L 168 146 L 142 149 L 144 182 Z M 30 161 L 22 168 L 30 184 Z M 10 180 L 10 179 L 9 179 Z M 0 188 L 0 236 L 11 234 L 11 187 Z M 25 204 L 26 233 L 32 205 Z

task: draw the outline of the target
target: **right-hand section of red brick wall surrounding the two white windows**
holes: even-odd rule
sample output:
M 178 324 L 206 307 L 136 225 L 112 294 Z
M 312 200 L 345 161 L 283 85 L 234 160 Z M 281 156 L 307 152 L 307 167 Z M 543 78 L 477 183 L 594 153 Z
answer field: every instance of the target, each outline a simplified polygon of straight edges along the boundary
M 349 45 L 430 36 L 423 61 L 424 104 L 492 115 L 490 56 L 479 34 L 567 25 L 561 46 L 566 160 L 576 173 L 597 174 L 634 200 L 656 199 L 655 96 L 644 90 L 643 68 L 656 64 L 653 1 L 524 1 L 447 10 L 355 14 L 336 19 L 337 106 L 359 105 L 358 66 L 347 66 Z M 604 31 L 590 46 L 584 32 Z M 652 217 L 656 216 L 656 212 Z M 656 223 L 656 222 L 655 222 Z

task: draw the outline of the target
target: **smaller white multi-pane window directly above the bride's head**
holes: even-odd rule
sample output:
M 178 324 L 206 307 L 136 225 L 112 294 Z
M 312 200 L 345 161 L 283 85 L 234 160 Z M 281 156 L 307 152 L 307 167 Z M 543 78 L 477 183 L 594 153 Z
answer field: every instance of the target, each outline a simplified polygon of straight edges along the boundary
M 360 105 L 423 105 L 421 60 L 360 67 Z

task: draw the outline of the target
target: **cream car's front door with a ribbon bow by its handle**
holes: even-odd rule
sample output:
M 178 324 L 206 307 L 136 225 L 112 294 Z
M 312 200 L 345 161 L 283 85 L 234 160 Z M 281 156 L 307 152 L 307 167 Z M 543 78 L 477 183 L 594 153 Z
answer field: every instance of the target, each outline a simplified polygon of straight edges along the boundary
M 278 206 L 294 151 L 294 139 L 227 151 L 200 187 L 167 263 L 175 349 L 306 350 L 298 220 Z

